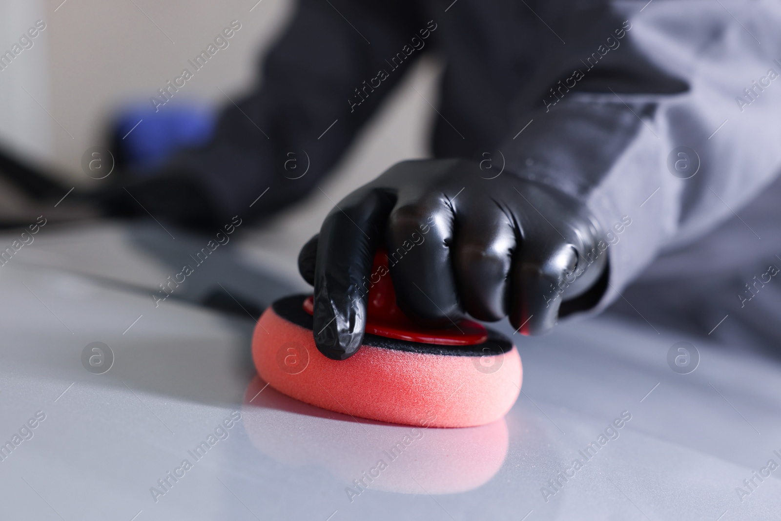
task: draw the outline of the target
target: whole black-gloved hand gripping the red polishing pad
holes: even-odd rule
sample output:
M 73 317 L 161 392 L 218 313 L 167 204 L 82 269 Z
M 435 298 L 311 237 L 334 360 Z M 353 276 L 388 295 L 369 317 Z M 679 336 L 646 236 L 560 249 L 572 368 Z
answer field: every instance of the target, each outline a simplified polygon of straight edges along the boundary
M 315 286 L 319 351 L 343 360 L 361 346 L 376 249 L 387 248 L 398 306 L 437 327 L 465 313 L 509 316 L 542 334 L 562 300 L 600 278 L 607 254 L 585 206 L 555 188 L 505 173 L 494 179 L 462 159 L 405 161 L 344 198 L 301 249 Z

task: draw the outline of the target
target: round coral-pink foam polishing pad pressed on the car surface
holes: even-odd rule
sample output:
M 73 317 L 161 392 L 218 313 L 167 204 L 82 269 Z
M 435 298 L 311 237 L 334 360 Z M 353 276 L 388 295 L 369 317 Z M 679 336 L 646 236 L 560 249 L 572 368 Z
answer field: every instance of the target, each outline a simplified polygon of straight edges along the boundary
M 521 359 L 506 339 L 506 351 L 490 340 L 457 351 L 367 335 L 355 355 L 331 360 L 315 346 L 303 297 L 292 299 L 283 301 L 294 302 L 300 316 L 275 302 L 252 337 L 259 375 L 288 396 L 351 416 L 437 427 L 493 422 L 518 398 Z

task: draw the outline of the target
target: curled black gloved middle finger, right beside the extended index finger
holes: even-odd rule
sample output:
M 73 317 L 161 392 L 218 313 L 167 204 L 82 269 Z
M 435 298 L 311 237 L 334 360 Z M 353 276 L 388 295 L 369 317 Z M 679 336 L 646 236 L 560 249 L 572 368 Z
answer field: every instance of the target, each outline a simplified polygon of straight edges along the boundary
M 464 315 L 451 266 L 451 199 L 457 192 L 445 189 L 423 200 L 399 202 L 388 219 L 386 246 L 396 302 L 407 316 L 428 326 L 451 326 Z

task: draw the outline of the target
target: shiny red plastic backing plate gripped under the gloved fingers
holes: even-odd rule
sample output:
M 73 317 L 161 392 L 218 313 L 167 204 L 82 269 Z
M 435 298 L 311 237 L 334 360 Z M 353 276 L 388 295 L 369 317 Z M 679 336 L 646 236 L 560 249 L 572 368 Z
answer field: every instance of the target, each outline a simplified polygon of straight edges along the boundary
M 396 293 L 384 250 L 374 256 L 372 274 L 364 283 L 369 289 L 366 333 L 438 345 L 475 345 L 488 340 L 486 328 L 473 320 L 462 319 L 442 328 L 422 327 L 412 322 L 396 305 Z M 312 315 L 312 297 L 306 298 L 303 307 Z

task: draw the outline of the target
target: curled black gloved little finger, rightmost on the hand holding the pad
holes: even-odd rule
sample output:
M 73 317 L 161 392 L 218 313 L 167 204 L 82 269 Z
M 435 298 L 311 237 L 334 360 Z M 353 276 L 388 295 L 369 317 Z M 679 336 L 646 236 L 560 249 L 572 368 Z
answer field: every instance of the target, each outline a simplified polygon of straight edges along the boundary
M 512 268 L 510 322 L 526 335 L 545 334 L 558 320 L 560 283 L 576 268 L 577 252 L 562 241 L 522 243 Z

